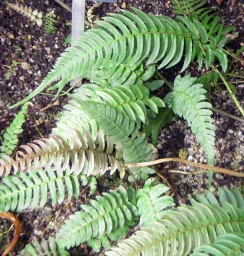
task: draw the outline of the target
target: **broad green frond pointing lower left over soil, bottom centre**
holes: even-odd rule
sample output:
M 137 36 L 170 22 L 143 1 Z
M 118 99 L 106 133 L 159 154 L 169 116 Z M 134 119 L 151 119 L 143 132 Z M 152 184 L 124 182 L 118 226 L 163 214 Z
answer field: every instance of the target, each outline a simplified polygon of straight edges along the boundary
M 138 215 L 133 200 L 133 191 L 130 189 L 127 192 L 121 186 L 119 192 L 103 192 L 102 196 L 96 196 L 96 200 L 90 200 L 91 206 L 81 205 L 82 211 L 65 220 L 56 241 L 63 247 L 70 248 L 130 225 Z

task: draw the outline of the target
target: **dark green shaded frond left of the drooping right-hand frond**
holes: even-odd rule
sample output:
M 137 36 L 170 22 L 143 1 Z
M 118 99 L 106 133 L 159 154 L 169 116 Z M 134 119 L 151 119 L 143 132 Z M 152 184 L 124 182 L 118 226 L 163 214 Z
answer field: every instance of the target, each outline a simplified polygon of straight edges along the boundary
M 157 145 L 159 134 L 162 129 L 168 125 L 173 118 L 173 112 L 170 108 L 163 108 L 156 118 L 150 118 L 148 126 L 144 127 L 144 132 L 149 137 L 152 135 L 152 144 L 154 147 Z

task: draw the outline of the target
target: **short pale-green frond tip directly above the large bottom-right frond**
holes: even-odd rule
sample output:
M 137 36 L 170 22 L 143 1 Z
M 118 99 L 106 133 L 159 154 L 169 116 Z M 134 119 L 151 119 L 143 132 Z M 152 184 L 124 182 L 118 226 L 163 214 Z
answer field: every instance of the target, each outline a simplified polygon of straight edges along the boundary
M 143 189 L 137 191 L 137 208 L 141 226 L 150 226 L 150 222 L 159 221 L 163 211 L 175 205 L 171 196 L 162 195 L 168 190 L 169 188 L 162 183 L 155 185 L 152 179 L 148 179 Z

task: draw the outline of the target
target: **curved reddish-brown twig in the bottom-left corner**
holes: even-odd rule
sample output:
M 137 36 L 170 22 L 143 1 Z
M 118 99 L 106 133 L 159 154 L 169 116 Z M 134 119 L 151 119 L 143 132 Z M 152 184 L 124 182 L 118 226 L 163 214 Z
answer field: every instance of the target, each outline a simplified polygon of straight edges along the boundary
M 15 226 L 14 237 L 12 238 L 7 249 L 1 255 L 1 256 L 7 256 L 9 254 L 9 252 L 15 247 L 17 241 L 19 240 L 20 233 L 21 233 L 21 225 L 20 225 L 19 219 L 17 219 L 12 213 L 8 213 L 8 212 L 0 213 L 0 218 L 7 219 L 7 220 L 13 222 L 13 224 Z

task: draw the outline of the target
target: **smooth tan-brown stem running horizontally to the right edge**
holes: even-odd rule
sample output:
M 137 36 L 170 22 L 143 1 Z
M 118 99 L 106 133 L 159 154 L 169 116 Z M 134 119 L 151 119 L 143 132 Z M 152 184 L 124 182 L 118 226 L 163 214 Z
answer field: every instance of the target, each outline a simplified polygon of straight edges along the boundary
M 227 175 L 231 175 L 231 176 L 235 176 L 235 177 L 244 178 L 244 173 L 242 173 L 242 172 L 231 171 L 231 170 L 227 170 L 227 169 L 220 168 L 220 167 L 189 162 L 187 160 L 184 160 L 184 159 L 181 159 L 181 158 L 176 158 L 176 157 L 162 158 L 162 159 L 158 159 L 158 160 L 155 160 L 155 161 L 137 163 L 137 164 L 125 164 L 125 166 L 127 168 L 144 167 L 144 166 L 158 165 L 158 164 L 162 164 L 162 163 L 166 163 L 166 162 L 172 162 L 172 161 L 173 162 L 180 162 L 180 163 L 183 163 L 183 164 L 187 164 L 187 165 L 194 166 L 194 167 L 197 167 L 197 168 L 202 168 L 202 169 L 209 170 L 209 171 L 214 171 L 214 172 L 219 172 L 219 173 L 223 173 L 223 174 L 227 174 Z

